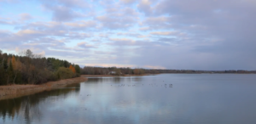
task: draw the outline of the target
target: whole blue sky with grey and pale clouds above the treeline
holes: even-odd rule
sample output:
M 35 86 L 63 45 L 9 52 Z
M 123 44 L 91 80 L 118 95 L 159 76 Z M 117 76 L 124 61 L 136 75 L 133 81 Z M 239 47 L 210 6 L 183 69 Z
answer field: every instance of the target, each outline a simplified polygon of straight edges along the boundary
M 256 1 L 0 0 L 0 49 L 81 66 L 256 70 Z

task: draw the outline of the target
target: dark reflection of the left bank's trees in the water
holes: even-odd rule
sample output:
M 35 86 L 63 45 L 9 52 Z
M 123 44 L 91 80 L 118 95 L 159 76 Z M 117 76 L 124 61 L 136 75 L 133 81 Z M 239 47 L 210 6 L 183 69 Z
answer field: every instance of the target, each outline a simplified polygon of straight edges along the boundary
M 15 116 L 23 115 L 26 123 L 31 123 L 34 119 L 40 120 L 42 117 L 39 109 L 40 103 L 44 103 L 44 101 L 56 96 L 60 99 L 65 99 L 69 93 L 79 93 L 79 87 L 80 84 L 72 84 L 66 88 L 45 91 L 16 99 L 0 100 L 0 118 L 3 118 L 3 121 L 6 118 L 12 118 L 13 120 Z

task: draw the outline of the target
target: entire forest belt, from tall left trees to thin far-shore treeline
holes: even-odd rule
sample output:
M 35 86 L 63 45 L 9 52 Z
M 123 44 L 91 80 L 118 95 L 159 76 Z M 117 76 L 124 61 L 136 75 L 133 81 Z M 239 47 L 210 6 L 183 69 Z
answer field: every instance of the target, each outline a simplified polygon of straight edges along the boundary
M 113 73 L 112 73 L 113 72 Z M 143 75 L 160 73 L 256 73 L 256 70 L 160 70 L 130 67 L 92 67 L 74 65 L 67 60 L 45 58 L 33 54 L 30 49 L 19 55 L 6 54 L 0 50 L 0 85 L 42 84 L 44 82 L 78 77 L 80 75 Z

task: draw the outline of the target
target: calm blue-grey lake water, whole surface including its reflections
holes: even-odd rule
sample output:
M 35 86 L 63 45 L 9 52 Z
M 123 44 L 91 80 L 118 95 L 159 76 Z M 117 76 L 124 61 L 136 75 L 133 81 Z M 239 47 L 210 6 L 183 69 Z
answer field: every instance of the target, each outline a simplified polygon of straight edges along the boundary
M 1 100 L 0 123 L 255 124 L 256 75 L 91 77 Z

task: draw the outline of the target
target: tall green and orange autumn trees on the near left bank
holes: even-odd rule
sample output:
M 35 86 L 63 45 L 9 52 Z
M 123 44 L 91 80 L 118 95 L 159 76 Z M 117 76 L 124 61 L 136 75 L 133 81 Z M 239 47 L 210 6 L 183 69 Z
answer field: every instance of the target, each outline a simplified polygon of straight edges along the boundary
M 0 50 L 0 85 L 41 84 L 80 76 L 79 65 L 67 60 L 45 58 L 30 49 L 19 55 Z

